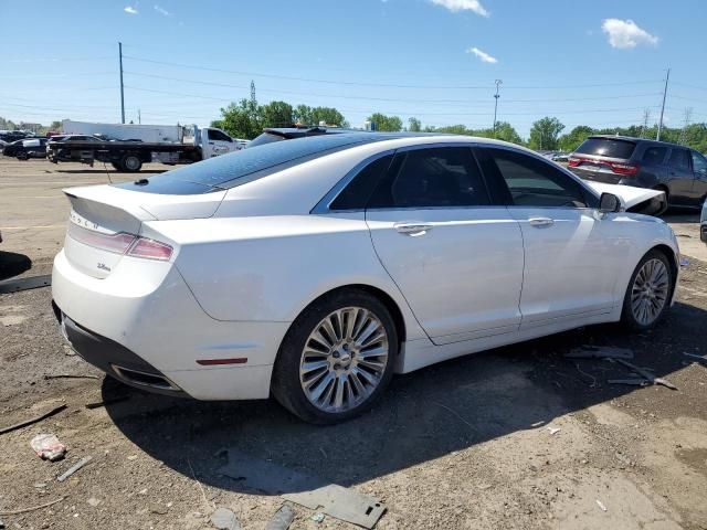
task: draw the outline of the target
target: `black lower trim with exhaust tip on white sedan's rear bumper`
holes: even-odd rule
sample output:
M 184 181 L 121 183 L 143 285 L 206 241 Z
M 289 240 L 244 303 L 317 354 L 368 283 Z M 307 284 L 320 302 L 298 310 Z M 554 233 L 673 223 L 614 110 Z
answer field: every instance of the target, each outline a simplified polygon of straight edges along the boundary
M 187 396 L 159 370 L 126 347 L 84 328 L 52 301 L 66 340 L 86 362 L 130 386 L 166 395 Z

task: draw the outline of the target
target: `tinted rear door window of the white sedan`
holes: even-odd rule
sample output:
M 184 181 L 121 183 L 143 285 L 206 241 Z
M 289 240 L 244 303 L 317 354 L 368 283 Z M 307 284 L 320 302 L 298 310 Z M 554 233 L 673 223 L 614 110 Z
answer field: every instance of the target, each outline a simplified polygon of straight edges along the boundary
M 398 153 L 369 208 L 454 208 L 488 203 L 471 149 L 439 147 Z

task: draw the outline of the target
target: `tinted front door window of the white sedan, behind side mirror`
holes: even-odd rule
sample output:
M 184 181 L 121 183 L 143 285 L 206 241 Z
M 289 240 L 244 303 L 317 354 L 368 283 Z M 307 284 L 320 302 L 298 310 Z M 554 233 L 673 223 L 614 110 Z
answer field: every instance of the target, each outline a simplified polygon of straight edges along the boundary
M 594 208 L 595 198 L 568 174 L 538 158 L 506 149 L 479 149 L 484 171 L 506 183 L 511 204 L 539 208 Z

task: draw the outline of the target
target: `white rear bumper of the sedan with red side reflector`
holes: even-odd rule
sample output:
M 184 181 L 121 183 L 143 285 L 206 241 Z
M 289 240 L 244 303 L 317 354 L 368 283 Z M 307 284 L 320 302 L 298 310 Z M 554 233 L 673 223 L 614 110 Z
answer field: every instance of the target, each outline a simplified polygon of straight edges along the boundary
M 52 294 L 76 351 L 128 384 L 199 400 L 270 395 L 288 322 L 214 320 L 169 263 L 124 256 L 99 279 L 74 267 L 62 251 Z

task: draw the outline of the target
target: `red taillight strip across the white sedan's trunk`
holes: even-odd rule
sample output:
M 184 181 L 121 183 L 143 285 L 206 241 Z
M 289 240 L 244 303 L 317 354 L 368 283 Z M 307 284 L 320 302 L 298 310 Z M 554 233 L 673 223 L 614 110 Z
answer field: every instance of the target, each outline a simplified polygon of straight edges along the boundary
M 165 262 L 172 257 L 173 248 L 167 243 L 128 234 L 127 232 L 105 234 L 70 222 L 67 234 L 80 243 L 114 254 L 127 254 L 133 257 Z

